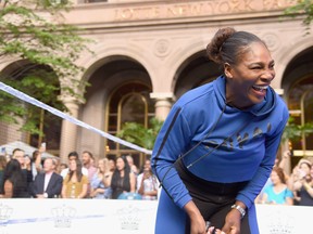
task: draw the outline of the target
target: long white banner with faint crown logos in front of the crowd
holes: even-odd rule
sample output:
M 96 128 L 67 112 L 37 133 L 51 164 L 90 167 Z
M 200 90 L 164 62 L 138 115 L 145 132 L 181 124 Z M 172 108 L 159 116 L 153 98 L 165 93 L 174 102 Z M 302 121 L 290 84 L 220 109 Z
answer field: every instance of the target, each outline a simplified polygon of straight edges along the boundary
M 0 199 L 0 234 L 153 234 L 156 200 Z M 312 233 L 312 207 L 258 205 L 261 234 Z

